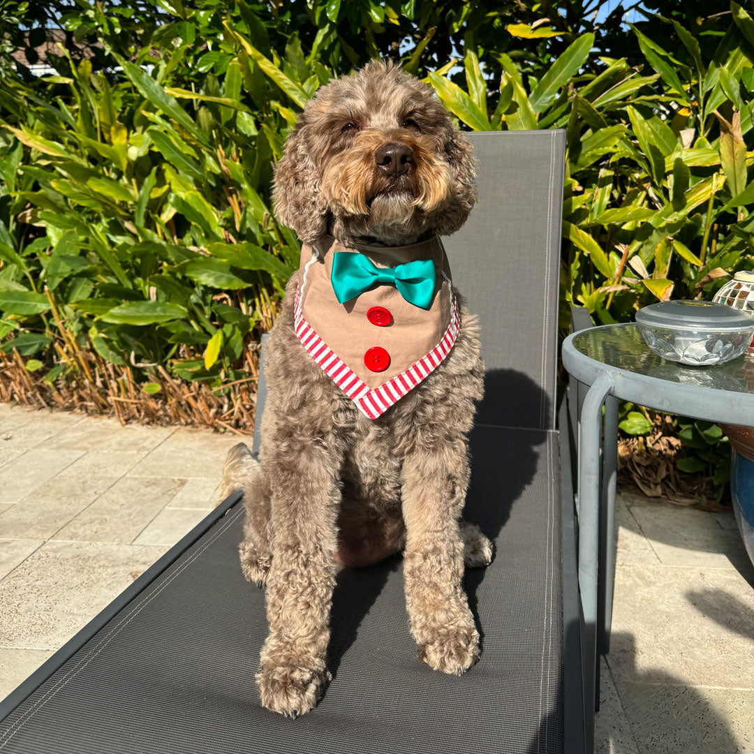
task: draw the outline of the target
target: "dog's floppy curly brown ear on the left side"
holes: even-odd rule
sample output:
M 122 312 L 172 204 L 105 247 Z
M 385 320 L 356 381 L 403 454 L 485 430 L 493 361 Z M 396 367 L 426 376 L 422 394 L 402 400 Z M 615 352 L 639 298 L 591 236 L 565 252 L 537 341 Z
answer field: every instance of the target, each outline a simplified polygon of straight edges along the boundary
M 275 166 L 272 203 L 277 220 L 292 228 L 300 241 L 313 244 L 326 231 L 327 203 L 306 149 L 306 128 L 300 119 L 286 139 Z

